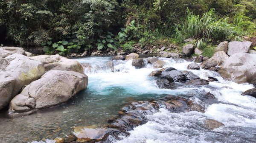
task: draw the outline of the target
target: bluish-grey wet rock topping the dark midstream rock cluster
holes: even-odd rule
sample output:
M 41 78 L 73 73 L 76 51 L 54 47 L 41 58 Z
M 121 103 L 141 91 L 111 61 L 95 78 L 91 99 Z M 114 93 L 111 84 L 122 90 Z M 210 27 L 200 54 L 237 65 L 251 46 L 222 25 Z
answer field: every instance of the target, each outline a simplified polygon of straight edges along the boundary
M 163 76 L 171 76 L 177 82 L 189 81 L 193 79 L 200 79 L 198 76 L 189 71 L 176 70 L 173 67 L 166 68 L 162 72 Z

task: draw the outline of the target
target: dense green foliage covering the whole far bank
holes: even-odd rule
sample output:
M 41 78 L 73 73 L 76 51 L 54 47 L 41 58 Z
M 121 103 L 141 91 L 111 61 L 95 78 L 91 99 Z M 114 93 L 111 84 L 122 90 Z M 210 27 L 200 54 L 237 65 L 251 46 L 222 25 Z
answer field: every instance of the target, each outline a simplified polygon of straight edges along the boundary
M 0 42 L 41 46 L 48 54 L 131 50 L 136 42 L 161 45 L 188 37 L 205 48 L 207 42 L 255 35 L 255 22 L 255 0 L 0 1 Z

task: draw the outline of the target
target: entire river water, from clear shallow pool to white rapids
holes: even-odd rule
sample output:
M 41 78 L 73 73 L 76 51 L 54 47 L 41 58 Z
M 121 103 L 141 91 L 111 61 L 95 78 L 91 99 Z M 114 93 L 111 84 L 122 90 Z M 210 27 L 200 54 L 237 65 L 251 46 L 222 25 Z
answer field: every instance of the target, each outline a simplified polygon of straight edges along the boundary
M 160 59 L 166 62 L 164 67 L 177 70 L 187 70 L 187 65 L 192 63 L 185 59 Z M 111 61 L 111 57 L 76 60 L 92 65 L 90 70 L 85 70 L 89 77 L 87 90 L 81 91 L 66 104 L 32 115 L 12 119 L 3 113 L 0 115 L 0 143 L 26 143 L 33 140 L 36 141 L 32 143 L 51 143 L 51 139 L 73 132 L 74 126 L 104 126 L 109 118 L 117 115 L 120 108 L 131 101 L 160 99 L 166 95 L 182 95 L 205 104 L 206 112 L 171 113 L 160 109 L 160 112 L 147 115 L 149 121 L 130 131 L 130 136 L 120 136 L 122 140 L 113 140 L 113 143 L 256 142 L 256 98 L 241 95 L 245 90 L 253 88 L 253 85 L 236 84 L 221 78 L 216 72 L 201 69 L 188 71 L 202 79 L 212 76 L 218 81 L 200 87 L 159 89 L 156 79 L 148 77 L 151 71 L 156 70 L 151 64 L 135 69 L 131 66 L 131 60 L 113 61 L 114 72 L 111 72 L 106 69 L 106 63 Z M 199 96 L 207 92 L 214 94 L 219 102 L 203 103 Z M 215 119 L 225 126 L 214 130 L 205 129 L 202 127 L 205 118 Z

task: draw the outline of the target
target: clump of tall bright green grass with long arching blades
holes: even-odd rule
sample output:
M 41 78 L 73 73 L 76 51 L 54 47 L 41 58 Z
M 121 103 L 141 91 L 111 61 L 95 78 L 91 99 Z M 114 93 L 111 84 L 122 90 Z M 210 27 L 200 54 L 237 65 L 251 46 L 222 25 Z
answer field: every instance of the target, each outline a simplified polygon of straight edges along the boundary
M 175 38 L 180 42 L 189 37 L 198 39 L 196 45 L 198 48 L 204 48 L 207 39 L 218 41 L 231 35 L 241 36 L 243 31 L 240 30 L 239 24 L 242 21 L 241 17 L 237 18 L 236 24 L 229 23 L 228 18 L 220 19 L 213 8 L 204 12 L 202 16 L 195 15 L 187 9 L 184 22 L 174 28 Z

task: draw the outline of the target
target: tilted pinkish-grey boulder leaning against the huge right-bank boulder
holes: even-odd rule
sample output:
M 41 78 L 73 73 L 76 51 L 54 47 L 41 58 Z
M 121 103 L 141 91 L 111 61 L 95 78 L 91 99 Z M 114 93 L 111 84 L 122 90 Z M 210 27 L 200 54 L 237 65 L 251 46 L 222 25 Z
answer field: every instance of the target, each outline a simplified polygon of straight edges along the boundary
M 218 51 L 214 53 L 214 55 L 202 62 L 201 67 L 203 69 L 209 69 L 211 67 L 215 67 L 217 65 L 221 65 L 229 56 L 224 51 Z

